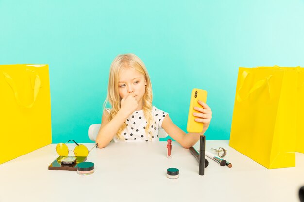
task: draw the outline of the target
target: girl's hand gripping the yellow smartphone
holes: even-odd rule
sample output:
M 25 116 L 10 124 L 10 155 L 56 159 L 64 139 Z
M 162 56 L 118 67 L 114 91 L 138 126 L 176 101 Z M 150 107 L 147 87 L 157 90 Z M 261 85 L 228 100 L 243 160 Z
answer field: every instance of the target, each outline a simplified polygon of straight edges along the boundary
M 201 113 L 193 113 L 193 116 L 198 117 L 195 119 L 196 122 L 203 123 L 203 133 L 206 132 L 206 130 L 209 127 L 211 118 L 212 118 L 212 111 L 210 107 L 204 103 L 203 101 L 199 100 L 198 103 L 203 107 L 194 107 L 194 110 L 199 111 Z

